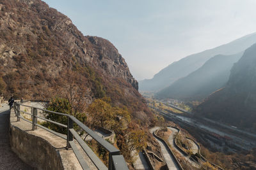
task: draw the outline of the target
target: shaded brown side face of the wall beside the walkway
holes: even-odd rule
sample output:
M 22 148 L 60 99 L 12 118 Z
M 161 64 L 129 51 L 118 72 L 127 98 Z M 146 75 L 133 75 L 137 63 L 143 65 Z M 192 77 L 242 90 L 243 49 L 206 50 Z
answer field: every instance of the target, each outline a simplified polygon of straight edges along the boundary
M 38 169 L 64 169 L 60 153 L 46 140 L 10 125 L 10 145 L 20 159 Z

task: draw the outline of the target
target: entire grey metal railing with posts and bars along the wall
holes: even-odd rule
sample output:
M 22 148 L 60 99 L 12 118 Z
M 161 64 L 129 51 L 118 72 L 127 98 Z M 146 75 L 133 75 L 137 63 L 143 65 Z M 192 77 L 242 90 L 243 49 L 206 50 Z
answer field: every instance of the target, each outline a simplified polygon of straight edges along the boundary
M 25 106 L 25 107 L 31 108 L 32 114 L 28 113 L 26 111 L 20 110 L 20 106 Z M 41 127 L 42 129 L 45 129 L 45 131 L 49 131 L 49 132 L 55 134 L 56 136 L 59 136 L 60 138 L 67 140 L 67 148 L 72 148 L 73 152 L 75 153 L 75 155 L 77 157 L 77 160 L 79 161 L 79 163 L 81 164 L 81 167 L 83 169 L 90 169 L 90 168 L 89 168 L 88 164 L 86 163 L 86 161 L 84 160 L 82 153 L 77 148 L 76 143 L 74 143 L 74 139 L 76 139 L 77 143 L 79 143 L 81 148 L 83 148 L 84 152 L 88 155 L 88 157 L 90 157 L 90 159 L 92 160 L 93 164 L 97 167 L 97 169 L 116 169 L 116 170 L 117 169 L 122 169 L 122 170 L 128 169 L 123 155 L 120 154 L 120 150 L 115 148 L 115 146 L 111 145 L 105 139 L 101 138 L 98 134 L 93 132 L 89 127 L 84 125 L 82 122 L 77 120 L 77 118 L 73 117 L 72 115 L 67 115 L 65 113 L 58 113 L 55 111 L 44 110 L 42 108 L 36 108 L 33 106 L 27 106 L 27 105 L 19 104 L 19 103 L 14 103 L 13 109 L 15 110 L 15 115 L 17 116 L 17 121 L 20 121 L 20 118 L 21 118 L 22 120 L 25 120 L 26 122 L 31 123 L 33 131 L 35 129 L 37 129 L 37 127 Z M 61 116 L 67 117 L 67 119 L 68 119 L 67 125 L 61 124 L 59 122 L 54 122 L 47 118 L 38 116 L 38 110 L 42 110 L 46 113 L 53 113 L 56 115 L 61 115 Z M 22 117 L 22 115 L 20 115 L 20 112 L 25 113 L 27 115 L 31 115 L 32 121 L 28 120 L 27 118 Z M 67 136 L 65 136 L 64 134 L 60 134 L 58 132 L 52 131 L 51 129 L 48 129 L 47 127 L 44 127 L 43 125 L 38 124 L 38 122 L 37 122 L 38 118 L 45 120 L 47 122 L 51 122 L 52 124 L 56 124 L 61 127 L 67 128 Z M 108 153 L 109 153 L 108 167 L 105 166 L 105 164 L 99 159 L 99 157 L 97 157 L 97 155 L 95 155 L 95 153 L 91 150 L 91 148 L 88 145 L 86 145 L 86 143 L 79 136 L 79 134 L 77 134 L 77 132 L 73 128 L 74 123 L 76 123 L 81 129 L 83 129 L 83 131 L 85 131 L 93 139 L 95 139 L 95 141 L 97 141 L 97 143 L 99 143 L 100 146 L 104 147 L 108 151 Z

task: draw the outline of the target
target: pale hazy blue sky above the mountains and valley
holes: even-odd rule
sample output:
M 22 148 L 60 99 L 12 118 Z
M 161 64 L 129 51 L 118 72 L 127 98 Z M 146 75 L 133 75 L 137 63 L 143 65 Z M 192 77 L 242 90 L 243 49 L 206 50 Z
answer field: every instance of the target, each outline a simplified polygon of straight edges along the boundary
M 44 0 L 84 35 L 116 46 L 137 80 L 256 32 L 255 0 Z

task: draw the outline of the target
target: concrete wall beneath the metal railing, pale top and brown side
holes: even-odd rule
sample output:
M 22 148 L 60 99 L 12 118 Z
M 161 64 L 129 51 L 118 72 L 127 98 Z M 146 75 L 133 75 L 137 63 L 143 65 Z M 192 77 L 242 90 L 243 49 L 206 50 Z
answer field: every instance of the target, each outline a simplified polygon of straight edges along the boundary
M 38 127 L 32 131 L 32 124 L 10 115 L 10 145 L 12 151 L 26 164 L 36 169 L 82 169 L 72 149 L 66 149 L 67 141 Z M 83 150 L 75 141 L 77 148 Z M 90 169 L 97 169 L 88 155 L 83 157 Z

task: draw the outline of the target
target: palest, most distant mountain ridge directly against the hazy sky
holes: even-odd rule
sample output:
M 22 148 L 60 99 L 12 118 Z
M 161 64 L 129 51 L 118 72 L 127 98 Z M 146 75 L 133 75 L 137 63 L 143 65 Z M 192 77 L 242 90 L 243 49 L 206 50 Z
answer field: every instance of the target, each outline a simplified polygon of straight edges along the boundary
M 174 81 L 177 81 L 184 76 L 188 76 L 188 74 L 192 73 L 193 71 L 196 71 L 196 69 L 201 67 L 207 60 L 211 59 L 211 57 L 219 54 L 232 55 L 242 52 L 255 42 L 256 33 L 253 33 L 236 39 L 228 44 L 184 57 L 183 59 L 173 62 L 169 66 L 159 71 L 159 73 L 154 75 L 154 78 L 140 81 L 140 90 L 153 92 L 162 90 L 165 87 L 170 86 Z

